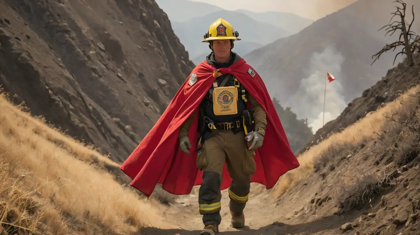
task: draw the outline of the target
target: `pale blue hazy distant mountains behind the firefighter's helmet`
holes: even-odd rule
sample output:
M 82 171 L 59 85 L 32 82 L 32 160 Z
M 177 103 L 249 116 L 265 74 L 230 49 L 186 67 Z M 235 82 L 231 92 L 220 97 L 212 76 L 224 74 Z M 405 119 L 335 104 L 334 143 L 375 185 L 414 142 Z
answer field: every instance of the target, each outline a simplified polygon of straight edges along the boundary
M 207 3 L 189 0 L 156 0 L 171 20 L 172 28 L 189 52 L 190 59 L 198 64 L 210 53 L 201 42 L 210 24 L 223 18 L 234 26 L 242 40 L 235 43 L 234 51 L 245 55 L 276 39 L 297 33 L 313 21 L 291 13 L 254 13 L 248 10 L 223 10 Z

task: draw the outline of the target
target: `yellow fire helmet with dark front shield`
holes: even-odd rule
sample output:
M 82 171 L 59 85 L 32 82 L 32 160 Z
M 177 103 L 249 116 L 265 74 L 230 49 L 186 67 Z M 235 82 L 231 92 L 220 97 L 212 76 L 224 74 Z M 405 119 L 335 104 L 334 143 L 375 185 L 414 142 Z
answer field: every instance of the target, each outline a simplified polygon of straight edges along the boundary
M 204 34 L 204 40 L 201 42 L 223 39 L 233 39 L 237 41 L 241 40 L 238 37 L 238 31 L 234 31 L 234 28 L 228 21 L 225 21 L 222 18 L 218 18 L 210 25 L 209 30 Z

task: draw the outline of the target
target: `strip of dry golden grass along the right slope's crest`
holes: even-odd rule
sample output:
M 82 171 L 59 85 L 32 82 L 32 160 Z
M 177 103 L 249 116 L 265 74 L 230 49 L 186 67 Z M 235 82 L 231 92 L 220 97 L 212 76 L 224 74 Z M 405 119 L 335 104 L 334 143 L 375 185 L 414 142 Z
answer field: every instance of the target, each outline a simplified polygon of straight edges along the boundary
M 365 118 L 348 126 L 340 133 L 335 133 L 312 146 L 298 157 L 300 166 L 283 175 L 269 192 L 269 196 L 278 198 L 288 189 L 305 180 L 314 172 L 314 162 L 318 159 L 331 159 L 345 149 L 379 138 L 383 131 L 393 131 L 398 128 L 401 123 L 400 118 L 406 115 L 412 106 L 415 106 L 418 92 L 420 92 L 420 85 L 409 89 L 375 112 L 368 113 Z

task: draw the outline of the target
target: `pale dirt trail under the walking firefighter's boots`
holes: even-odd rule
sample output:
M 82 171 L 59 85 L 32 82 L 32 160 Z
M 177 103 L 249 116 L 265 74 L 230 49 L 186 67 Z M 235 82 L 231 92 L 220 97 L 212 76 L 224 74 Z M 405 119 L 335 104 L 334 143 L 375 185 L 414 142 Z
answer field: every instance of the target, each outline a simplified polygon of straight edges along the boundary
M 252 192 L 251 192 L 252 193 Z M 329 229 L 341 226 L 338 216 L 323 217 L 311 222 L 302 221 L 295 211 L 299 210 L 300 201 L 310 201 L 309 197 L 296 198 L 277 203 L 267 198 L 266 193 L 250 196 L 245 208 L 245 227 L 235 229 L 231 227 L 231 215 L 228 209 L 228 192 L 222 192 L 222 222 L 219 226 L 220 235 L 280 235 L 280 234 L 322 234 L 329 235 Z M 308 195 L 309 196 L 309 195 Z M 302 207 L 302 205 L 300 205 Z M 194 194 L 180 196 L 177 204 L 167 212 L 168 219 L 172 219 L 181 229 L 164 230 L 145 228 L 143 235 L 198 235 L 203 228 L 202 217 L 198 210 L 197 196 Z

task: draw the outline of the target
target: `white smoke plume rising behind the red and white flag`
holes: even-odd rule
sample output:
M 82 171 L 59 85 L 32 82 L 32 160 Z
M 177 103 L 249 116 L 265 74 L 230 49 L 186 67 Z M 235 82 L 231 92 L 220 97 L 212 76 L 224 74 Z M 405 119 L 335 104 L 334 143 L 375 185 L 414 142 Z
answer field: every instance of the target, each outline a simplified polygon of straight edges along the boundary
M 344 57 L 334 47 L 328 46 L 321 53 L 313 53 L 310 59 L 311 75 L 302 79 L 299 89 L 287 106 L 290 106 L 299 119 L 307 118 L 308 125 L 315 133 L 323 125 L 323 106 L 326 71 L 328 70 L 336 80 L 328 83 L 325 95 L 325 123 L 337 118 L 347 107 L 344 96 L 341 95 L 343 86 L 341 81 L 341 65 Z M 341 80 L 341 81 L 340 81 Z

